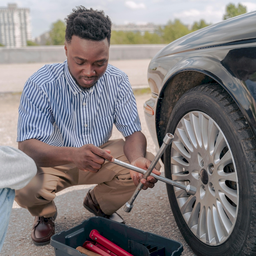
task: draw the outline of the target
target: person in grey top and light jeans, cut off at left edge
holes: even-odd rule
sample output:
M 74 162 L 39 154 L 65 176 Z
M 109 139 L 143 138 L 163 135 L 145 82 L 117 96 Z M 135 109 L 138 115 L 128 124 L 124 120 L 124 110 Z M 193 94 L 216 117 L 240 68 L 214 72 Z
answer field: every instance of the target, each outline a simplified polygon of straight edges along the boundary
M 19 149 L 0 147 L 0 252 L 8 229 L 15 190 L 25 187 L 36 175 L 36 164 Z

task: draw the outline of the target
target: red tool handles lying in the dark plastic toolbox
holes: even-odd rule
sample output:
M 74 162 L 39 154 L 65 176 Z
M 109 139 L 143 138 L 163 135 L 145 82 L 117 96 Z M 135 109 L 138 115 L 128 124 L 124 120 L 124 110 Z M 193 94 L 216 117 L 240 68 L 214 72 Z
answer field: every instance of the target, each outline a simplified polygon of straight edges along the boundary
M 90 238 L 95 242 L 85 241 L 83 247 L 91 252 L 98 253 L 102 256 L 132 256 L 118 245 L 109 241 L 106 237 L 93 229 L 90 233 Z

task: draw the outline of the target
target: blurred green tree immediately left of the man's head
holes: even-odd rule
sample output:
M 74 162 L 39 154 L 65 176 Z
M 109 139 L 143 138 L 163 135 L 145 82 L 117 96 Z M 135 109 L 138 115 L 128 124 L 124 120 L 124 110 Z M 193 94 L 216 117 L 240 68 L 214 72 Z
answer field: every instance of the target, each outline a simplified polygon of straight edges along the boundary
M 49 44 L 53 45 L 63 45 L 65 42 L 65 32 L 66 24 L 62 20 L 57 20 L 52 23 L 50 30 L 50 39 L 51 42 Z

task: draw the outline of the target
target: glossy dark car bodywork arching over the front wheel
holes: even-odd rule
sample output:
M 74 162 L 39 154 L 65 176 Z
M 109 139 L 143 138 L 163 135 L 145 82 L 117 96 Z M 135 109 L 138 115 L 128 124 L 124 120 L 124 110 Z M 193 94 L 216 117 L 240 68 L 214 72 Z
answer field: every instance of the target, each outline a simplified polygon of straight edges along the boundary
M 212 47 L 213 45 L 214 47 Z M 222 85 L 235 100 L 256 135 L 256 73 L 252 75 L 254 77 L 252 80 L 247 79 L 250 78 L 249 76 L 241 78 L 236 74 L 236 70 L 232 72 L 232 68 L 227 68 L 226 65 L 226 62 L 229 62 L 229 65 L 237 62 L 236 66 L 241 66 L 241 69 L 245 69 L 247 72 L 246 65 L 244 67 L 243 63 L 240 65 L 240 60 L 236 57 L 227 60 L 227 56 L 230 55 L 228 55 L 229 52 L 234 51 L 236 55 L 241 55 L 243 52 L 248 52 L 249 49 L 252 55 L 255 55 L 252 58 L 253 73 L 255 73 L 256 12 L 241 15 L 184 36 L 167 45 L 151 60 L 148 67 L 148 79 L 151 81 L 149 86 L 152 91 L 152 99 L 157 102 L 153 108 L 155 114 L 153 116 L 145 115 L 145 117 L 157 148 L 161 144 L 157 131 L 161 108 L 159 102 L 164 97 L 164 92 L 170 81 L 180 72 L 186 71 L 205 74 Z M 187 82 L 189 83 L 189 81 Z

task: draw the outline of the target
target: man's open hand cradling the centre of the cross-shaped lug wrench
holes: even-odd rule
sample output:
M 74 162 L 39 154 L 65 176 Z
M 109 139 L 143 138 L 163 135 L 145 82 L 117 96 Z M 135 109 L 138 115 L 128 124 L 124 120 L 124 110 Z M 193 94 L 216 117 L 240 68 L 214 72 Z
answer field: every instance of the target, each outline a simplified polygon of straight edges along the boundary
M 141 169 L 144 170 L 148 170 L 149 165 L 151 164 L 151 161 L 144 158 L 144 157 L 139 157 L 136 160 L 134 160 L 133 162 L 131 162 L 132 165 L 140 167 Z M 160 175 L 161 172 L 157 171 L 156 168 L 153 169 L 152 171 L 153 173 Z M 157 182 L 157 180 L 152 177 L 152 176 L 148 176 L 147 180 L 146 179 L 142 179 L 143 174 L 139 173 L 139 172 L 135 172 L 135 171 L 130 171 L 132 180 L 135 184 L 135 186 L 139 185 L 139 182 L 141 182 L 144 186 L 142 189 L 147 189 L 147 188 L 153 188 L 155 186 L 155 183 Z

